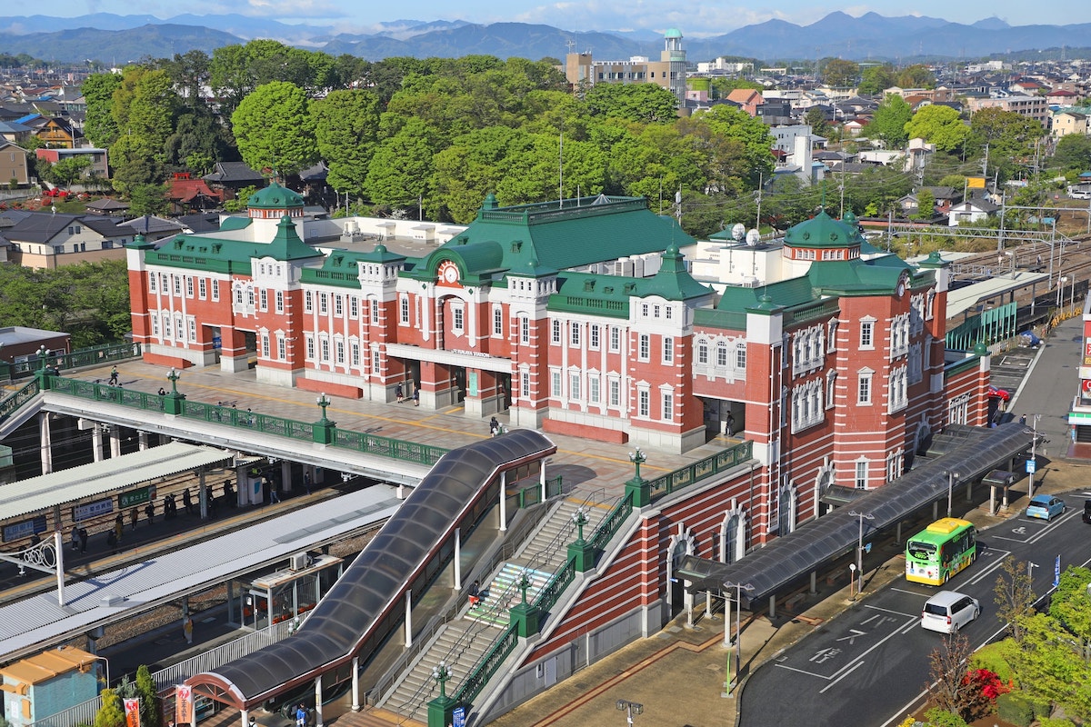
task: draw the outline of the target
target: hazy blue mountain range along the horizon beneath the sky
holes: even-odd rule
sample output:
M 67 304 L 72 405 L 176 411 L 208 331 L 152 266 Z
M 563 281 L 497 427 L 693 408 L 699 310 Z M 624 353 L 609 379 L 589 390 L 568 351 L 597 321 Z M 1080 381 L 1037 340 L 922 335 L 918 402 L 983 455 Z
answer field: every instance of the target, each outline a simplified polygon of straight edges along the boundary
M 680 28 L 685 34 L 685 28 Z M 632 56 L 659 58 L 661 36 L 622 32 L 572 32 L 549 25 L 463 21 L 394 21 L 374 33 L 345 34 L 333 27 L 289 25 L 238 14 L 152 15 L 95 13 L 77 17 L 47 15 L 0 17 L 0 52 L 27 53 L 61 62 L 119 64 L 144 57 L 167 58 L 191 49 L 212 53 L 218 47 L 253 38 L 351 53 L 367 60 L 394 56 L 457 58 L 484 53 L 539 59 L 563 58 L 568 49 L 590 51 L 600 60 Z M 767 62 L 838 57 L 850 60 L 982 58 L 1027 50 L 1083 48 L 1091 45 L 1091 23 L 1011 26 L 996 17 L 972 25 L 936 17 L 852 17 L 834 12 L 811 25 L 771 20 L 715 37 L 683 38 L 691 61 L 743 56 Z

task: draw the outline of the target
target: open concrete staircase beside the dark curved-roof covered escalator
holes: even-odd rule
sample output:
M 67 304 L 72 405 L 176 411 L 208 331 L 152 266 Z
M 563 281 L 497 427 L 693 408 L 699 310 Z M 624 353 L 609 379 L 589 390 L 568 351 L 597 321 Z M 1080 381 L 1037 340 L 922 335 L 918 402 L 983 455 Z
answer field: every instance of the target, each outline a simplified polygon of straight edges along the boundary
M 397 689 L 379 706 L 427 723 L 428 702 L 440 695 L 432 669 L 441 662 L 446 665 L 451 675 L 446 693 L 454 694 L 511 622 L 511 608 L 523 601 L 520 577 L 526 573 L 530 579 L 527 602 L 532 603 L 568 559 L 568 544 L 577 537 L 573 520 L 576 511 L 584 509 L 588 519 L 584 537 L 589 538 L 611 506 L 612 502 L 592 505 L 572 497 L 562 500 L 515 557 L 502 564 L 480 586 L 480 602 L 468 606 L 459 619 L 436 634 L 403 676 Z

